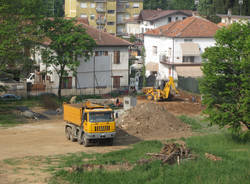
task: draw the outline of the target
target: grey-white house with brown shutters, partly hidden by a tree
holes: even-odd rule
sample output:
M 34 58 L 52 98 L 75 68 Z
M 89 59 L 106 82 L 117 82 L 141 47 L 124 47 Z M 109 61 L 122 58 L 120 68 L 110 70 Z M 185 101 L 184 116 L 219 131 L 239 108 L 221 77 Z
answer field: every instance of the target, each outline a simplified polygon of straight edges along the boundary
M 87 62 L 80 58 L 80 66 L 76 77 L 72 73 L 63 79 L 62 95 L 71 94 L 106 94 L 111 90 L 122 90 L 129 85 L 129 45 L 126 40 L 113 36 L 109 33 L 78 21 L 86 32 L 96 41 L 94 56 Z M 59 77 L 54 66 L 47 67 L 43 64 L 39 52 L 35 60 L 40 66 L 40 74 L 47 72 L 43 81 L 46 91 L 57 93 Z

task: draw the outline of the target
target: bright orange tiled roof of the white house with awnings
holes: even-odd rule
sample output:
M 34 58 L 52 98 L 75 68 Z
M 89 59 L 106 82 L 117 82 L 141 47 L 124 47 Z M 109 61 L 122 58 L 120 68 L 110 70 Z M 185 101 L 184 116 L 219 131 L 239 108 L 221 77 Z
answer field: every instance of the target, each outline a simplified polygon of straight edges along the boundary
M 145 35 L 178 38 L 212 38 L 219 28 L 218 25 L 207 19 L 193 16 L 149 30 Z

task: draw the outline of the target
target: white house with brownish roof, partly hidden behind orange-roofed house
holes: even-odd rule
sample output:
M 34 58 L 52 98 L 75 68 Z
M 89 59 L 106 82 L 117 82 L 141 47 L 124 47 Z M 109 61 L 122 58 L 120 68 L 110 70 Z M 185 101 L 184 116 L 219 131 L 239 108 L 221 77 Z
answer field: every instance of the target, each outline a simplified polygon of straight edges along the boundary
M 142 10 L 138 17 L 127 21 L 126 33 L 143 34 L 171 22 L 184 20 L 192 16 L 192 13 L 192 10 Z

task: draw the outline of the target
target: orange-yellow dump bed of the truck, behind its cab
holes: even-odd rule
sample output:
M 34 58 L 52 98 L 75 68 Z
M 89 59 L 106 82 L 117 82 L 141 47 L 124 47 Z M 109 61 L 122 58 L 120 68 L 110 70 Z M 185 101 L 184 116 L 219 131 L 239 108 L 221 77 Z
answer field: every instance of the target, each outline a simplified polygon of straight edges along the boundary
M 81 126 L 84 104 L 64 104 L 64 121 Z

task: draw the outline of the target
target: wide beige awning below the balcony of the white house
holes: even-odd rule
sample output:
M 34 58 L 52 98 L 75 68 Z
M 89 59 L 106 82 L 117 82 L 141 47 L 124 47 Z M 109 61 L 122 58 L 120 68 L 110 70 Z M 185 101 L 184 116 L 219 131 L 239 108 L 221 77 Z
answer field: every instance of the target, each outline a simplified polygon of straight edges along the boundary
M 200 66 L 176 66 L 178 76 L 201 77 L 203 75 Z

